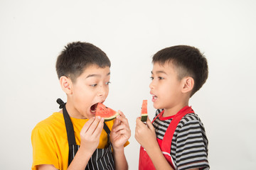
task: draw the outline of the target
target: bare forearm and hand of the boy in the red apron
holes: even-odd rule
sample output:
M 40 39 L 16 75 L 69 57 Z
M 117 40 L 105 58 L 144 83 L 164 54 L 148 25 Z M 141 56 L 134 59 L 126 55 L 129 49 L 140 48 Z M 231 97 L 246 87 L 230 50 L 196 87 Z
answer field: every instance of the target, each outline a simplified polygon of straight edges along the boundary
M 140 145 L 146 150 L 155 169 L 170 169 L 173 170 L 162 154 L 158 142 L 156 141 L 156 132 L 149 118 L 146 120 L 146 125 L 141 121 L 141 118 L 136 120 L 135 138 Z

